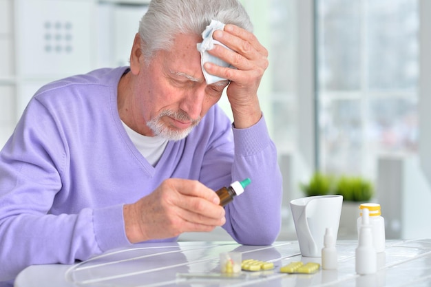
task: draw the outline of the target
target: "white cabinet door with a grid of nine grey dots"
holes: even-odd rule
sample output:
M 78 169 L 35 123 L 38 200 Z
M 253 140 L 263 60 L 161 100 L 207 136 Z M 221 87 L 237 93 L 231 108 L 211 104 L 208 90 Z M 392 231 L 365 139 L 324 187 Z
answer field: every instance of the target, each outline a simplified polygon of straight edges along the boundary
M 83 0 L 15 0 L 18 76 L 59 78 L 94 67 L 95 5 Z

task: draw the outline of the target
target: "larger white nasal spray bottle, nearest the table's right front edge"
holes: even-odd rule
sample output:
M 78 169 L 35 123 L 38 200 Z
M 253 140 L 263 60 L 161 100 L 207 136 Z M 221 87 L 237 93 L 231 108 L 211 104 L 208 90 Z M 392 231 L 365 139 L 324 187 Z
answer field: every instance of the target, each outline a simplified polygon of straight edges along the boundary
M 359 275 L 377 272 L 377 253 L 372 244 L 372 231 L 370 226 L 370 211 L 362 210 L 362 224 L 359 228 L 359 241 L 356 248 L 355 270 Z

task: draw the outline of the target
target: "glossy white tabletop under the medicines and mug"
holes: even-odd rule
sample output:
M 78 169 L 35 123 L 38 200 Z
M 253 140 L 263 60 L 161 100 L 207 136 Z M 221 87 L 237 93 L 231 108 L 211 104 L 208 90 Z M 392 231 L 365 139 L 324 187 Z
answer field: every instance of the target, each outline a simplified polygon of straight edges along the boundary
M 290 262 L 321 263 L 302 257 L 297 241 L 272 246 L 242 246 L 235 242 L 136 244 L 74 265 L 30 266 L 15 281 L 17 287 L 104 286 L 431 286 L 431 240 L 386 242 L 374 275 L 355 273 L 357 241 L 338 241 L 338 269 L 313 275 L 280 273 Z M 242 259 L 273 262 L 273 270 L 242 271 L 240 278 L 220 277 L 220 253 L 237 251 Z

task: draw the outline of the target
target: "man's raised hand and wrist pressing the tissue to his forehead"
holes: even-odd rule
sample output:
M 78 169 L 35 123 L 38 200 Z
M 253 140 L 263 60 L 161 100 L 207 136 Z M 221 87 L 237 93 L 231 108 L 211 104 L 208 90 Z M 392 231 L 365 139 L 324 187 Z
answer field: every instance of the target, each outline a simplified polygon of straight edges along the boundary
M 213 32 L 213 38 L 228 46 L 214 45 L 208 54 L 229 63 L 229 67 L 204 63 L 208 74 L 227 78 L 227 96 L 233 112 L 235 127 L 246 128 L 255 125 L 262 117 L 257 90 L 269 65 L 268 51 L 256 36 L 236 25 L 225 25 L 224 30 Z

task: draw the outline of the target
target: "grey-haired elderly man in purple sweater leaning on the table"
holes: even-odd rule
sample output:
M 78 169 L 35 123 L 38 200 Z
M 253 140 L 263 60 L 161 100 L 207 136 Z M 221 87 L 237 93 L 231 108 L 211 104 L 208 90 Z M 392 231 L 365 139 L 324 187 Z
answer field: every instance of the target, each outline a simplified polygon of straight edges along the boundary
M 201 54 L 211 20 L 227 25 Z M 257 97 L 267 51 L 251 29 L 236 0 L 153 0 L 129 67 L 36 92 L 0 153 L 0 281 L 215 226 L 242 244 L 275 240 L 282 179 Z M 216 105 L 224 89 L 233 123 Z M 214 191 L 244 178 L 220 206 Z

